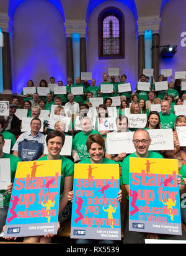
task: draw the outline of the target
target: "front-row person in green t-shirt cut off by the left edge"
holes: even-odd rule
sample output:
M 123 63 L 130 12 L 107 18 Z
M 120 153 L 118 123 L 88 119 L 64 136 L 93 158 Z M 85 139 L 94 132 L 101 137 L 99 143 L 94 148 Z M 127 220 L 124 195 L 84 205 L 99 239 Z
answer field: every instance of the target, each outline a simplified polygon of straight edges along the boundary
M 10 166 L 11 166 L 11 184 L 7 186 L 6 190 L 0 190 L 0 233 L 2 232 L 2 227 L 5 225 L 6 216 L 9 209 L 9 203 L 11 199 L 11 193 L 15 178 L 15 171 L 17 169 L 17 163 L 21 162 L 19 157 L 15 157 L 14 155 L 10 155 L 8 153 L 4 153 L 2 148 L 4 147 L 4 137 L 0 134 L 0 158 L 10 159 Z

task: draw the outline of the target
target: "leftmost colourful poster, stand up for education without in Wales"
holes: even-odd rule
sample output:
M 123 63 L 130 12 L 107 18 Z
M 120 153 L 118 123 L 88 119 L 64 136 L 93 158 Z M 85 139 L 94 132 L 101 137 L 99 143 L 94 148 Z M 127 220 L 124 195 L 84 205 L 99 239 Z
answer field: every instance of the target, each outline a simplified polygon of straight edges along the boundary
M 57 234 L 61 160 L 19 162 L 4 237 Z

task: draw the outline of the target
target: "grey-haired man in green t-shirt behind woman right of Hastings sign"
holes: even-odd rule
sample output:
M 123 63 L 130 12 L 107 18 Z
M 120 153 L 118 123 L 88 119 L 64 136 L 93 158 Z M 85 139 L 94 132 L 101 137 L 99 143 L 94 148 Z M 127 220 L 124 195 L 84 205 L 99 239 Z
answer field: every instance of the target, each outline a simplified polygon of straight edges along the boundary
M 171 105 L 169 101 L 161 102 L 161 112 L 159 112 L 161 129 L 174 129 L 176 115 L 170 111 Z

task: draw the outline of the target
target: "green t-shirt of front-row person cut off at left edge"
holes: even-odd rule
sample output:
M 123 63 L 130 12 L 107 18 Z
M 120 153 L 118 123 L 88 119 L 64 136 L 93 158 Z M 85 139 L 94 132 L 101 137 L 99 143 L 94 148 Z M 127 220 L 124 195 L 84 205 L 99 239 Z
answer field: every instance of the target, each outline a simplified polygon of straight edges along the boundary
M 10 165 L 11 165 L 11 183 L 14 183 L 15 172 L 17 170 L 17 163 L 21 162 L 19 157 L 15 157 L 15 155 L 11 155 L 8 153 L 4 153 L 1 159 L 10 158 Z M 0 190 L 0 207 L 9 206 L 11 199 L 11 194 L 8 194 L 6 190 Z

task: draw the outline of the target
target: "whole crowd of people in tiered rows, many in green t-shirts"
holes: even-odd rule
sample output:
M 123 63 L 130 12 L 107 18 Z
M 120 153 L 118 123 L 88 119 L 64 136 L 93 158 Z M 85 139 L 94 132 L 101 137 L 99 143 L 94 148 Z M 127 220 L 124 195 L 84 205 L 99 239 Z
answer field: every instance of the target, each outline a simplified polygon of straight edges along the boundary
M 45 96 L 38 94 L 37 88 L 33 94 L 22 95 L 24 103 L 20 104 L 20 98 L 13 96 L 9 104 L 9 116 L 0 117 L 0 157 L 9 158 L 11 163 L 11 184 L 6 190 L 0 191 L 0 232 L 6 222 L 7 211 L 11 199 L 17 163 L 20 161 L 33 160 L 57 160 L 62 159 L 63 175 L 60 187 L 60 215 L 59 227 L 71 217 L 71 199 L 73 198 L 73 172 L 74 163 L 108 163 L 119 164 L 122 168 L 121 185 L 124 184 L 129 193 L 129 159 L 130 157 L 145 158 L 172 158 L 177 159 L 181 178 L 180 194 L 186 191 L 186 147 L 180 147 L 176 127 L 186 126 L 185 115 L 175 114 L 175 105 L 186 103 L 186 91 L 182 91 L 182 80 L 173 81 L 172 76 L 167 90 L 156 91 L 154 77 L 150 83 L 149 91 L 139 91 L 138 84 L 135 91 L 119 92 L 118 85 L 130 83 L 126 81 L 126 75 L 119 76 L 103 75 L 103 81 L 96 85 L 92 78 L 91 83 L 81 81 L 76 77 L 75 83 L 68 78 L 66 93 L 55 94 L 51 89 Z M 169 79 L 169 78 L 168 78 Z M 149 77 L 141 75 L 139 81 L 148 83 Z M 159 75 L 158 81 L 167 81 L 163 75 Z M 50 85 L 64 86 L 63 81 L 55 83 L 55 78 L 50 78 Z M 113 85 L 110 93 L 102 92 L 102 85 Z M 35 87 L 32 80 L 28 81 L 27 87 Z M 38 87 L 48 88 L 46 80 L 41 80 Z M 73 88 L 78 88 L 81 94 L 74 93 Z M 81 89 L 80 89 L 81 88 Z M 113 97 L 120 97 L 120 104 L 113 106 Z M 97 98 L 98 104 L 92 99 Z M 152 106 L 158 105 L 159 111 L 152 110 Z M 30 126 L 26 132 L 22 132 L 23 119 L 16 116 L 17 109 L 27 109 Z M 114 111 L 112 112 L 112 110 Z M 49 111 L 48 118 L 43 118 L 43 111 Z M 128 114 L 146 114 L 147 122 L 143 129 L 131 128 L 128 125 Z M 101 129 L 99 120 L 113 119 L 113 129 Z M 42 129 L 43 127 L 43 129 Z M 148 130 L 172 129 L 174 150 L 158 152 L 149 151 L 151 138 Z M 115 132 L 133 131 L 133 145 L 135 152 L 126 152 L 110 155 L 107 150 L 107 134 Z M 61 155 L 61 149 L 68 136 L 72 136 L 71 154 Z M 11 140 L 10 153 L 3 152 L 5 139 Z M 47 144 L 47 154 L 45 154 Z M 24 153 L 23 153 L 24 149 Z M 26 153 L 25 153 L 26 152 Z M 29 152 L 33 152 L 30 154 Z M 106 170 L 105 170 L 106 171 Z M 118 201 L 122 199 L 122 191 L 118 191 Z M 143 234 L 128 231 L 128 211 L 125 211 L 124 243 L 143 243 L 146 237 L 159 238 L 157 234 Z M 182 221 L 186 224 L 185 209 L 182 208 Z M 123 229 L 123 227 L 122 227 Z M 184 234 L 184 232 L 183 232 Z M 170 239 L 185 239 L 184 235 L 170 236 Z M 46 237 L 25 237 L 24 242 L 50 242 L 50 234 Z M 81 242 L 87 242 L 82 241 Z M 112 241 L 111 241 L 112 242 Z

